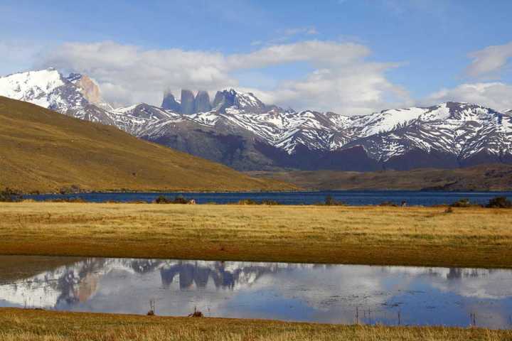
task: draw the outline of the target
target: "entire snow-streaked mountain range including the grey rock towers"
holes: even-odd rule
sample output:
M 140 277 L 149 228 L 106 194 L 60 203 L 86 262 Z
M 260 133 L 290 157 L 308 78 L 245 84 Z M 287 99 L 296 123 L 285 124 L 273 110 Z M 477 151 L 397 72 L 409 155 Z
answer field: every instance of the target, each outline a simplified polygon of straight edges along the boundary
M 58 70 L 0 78 L 0 95 L 87 121 L 242 171 L 398 171 L 512 163 L 512 110 L 445 102 L 348 116 L 264 104 L 254 94 L 182 90 L 160 107 L 112 108 L 86 75 Z

